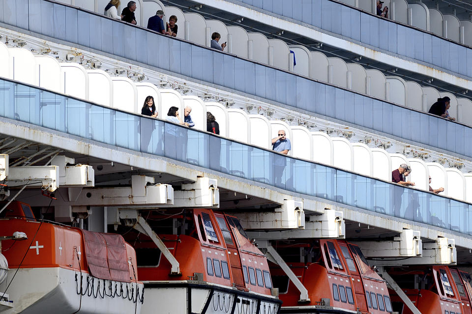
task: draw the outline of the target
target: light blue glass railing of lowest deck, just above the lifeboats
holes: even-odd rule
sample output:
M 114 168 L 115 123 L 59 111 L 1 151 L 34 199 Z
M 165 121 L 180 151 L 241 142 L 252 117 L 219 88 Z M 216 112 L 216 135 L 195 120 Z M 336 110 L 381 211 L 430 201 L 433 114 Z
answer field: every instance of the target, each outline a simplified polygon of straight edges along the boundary
M 472 204 L 0 80 L 0 116 L 440 228 L 472 234 Z

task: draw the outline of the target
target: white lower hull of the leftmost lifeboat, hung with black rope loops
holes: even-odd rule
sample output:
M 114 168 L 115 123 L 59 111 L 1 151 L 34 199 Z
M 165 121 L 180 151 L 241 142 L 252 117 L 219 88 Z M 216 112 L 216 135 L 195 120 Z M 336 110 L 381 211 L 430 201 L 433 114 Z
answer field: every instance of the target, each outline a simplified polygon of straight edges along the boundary
M 9 270 L 8 280 L 0 285 L 0 291 L 5 290 L 15 271 Z M 82 276 L 81 291 L 78 271 L 60 267 L 20 268 L 7 292 L 13 308 L 2 314 L 140 313 L 143 284 L 102 280 L 87 273 Z

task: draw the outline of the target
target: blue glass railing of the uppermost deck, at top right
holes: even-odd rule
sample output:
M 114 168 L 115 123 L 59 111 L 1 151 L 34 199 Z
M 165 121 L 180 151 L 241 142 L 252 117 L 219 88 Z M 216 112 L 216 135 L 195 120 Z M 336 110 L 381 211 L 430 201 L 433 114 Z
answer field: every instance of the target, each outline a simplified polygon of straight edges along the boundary
M 296 1 L 296 3 L 295 3 Z M 472 78 L 472 49 L 332 0 L 236 0 Z

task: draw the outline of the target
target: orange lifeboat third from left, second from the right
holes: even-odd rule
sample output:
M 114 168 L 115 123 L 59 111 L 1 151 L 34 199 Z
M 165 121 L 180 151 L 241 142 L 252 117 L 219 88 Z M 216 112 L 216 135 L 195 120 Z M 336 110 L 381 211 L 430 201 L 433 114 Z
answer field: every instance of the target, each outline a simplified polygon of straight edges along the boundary
M 392 313 L 385 281 L 369 266 L 359 247 L 346 241 L 319 239 L 273 241 L 301 284 L 308 302 L 284 271 L 270 263 L 274 286 L 283 301 L 281 313 Z

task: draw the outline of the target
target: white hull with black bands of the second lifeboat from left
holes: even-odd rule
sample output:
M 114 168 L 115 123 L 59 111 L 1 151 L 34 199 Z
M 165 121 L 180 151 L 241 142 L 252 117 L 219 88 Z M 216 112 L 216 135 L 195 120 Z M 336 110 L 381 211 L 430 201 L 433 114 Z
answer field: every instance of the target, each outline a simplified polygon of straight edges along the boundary
M 282 303 L 275 297 L 221 285 L 145 282 L 145 288 L 141 314 L 278 314 Z

